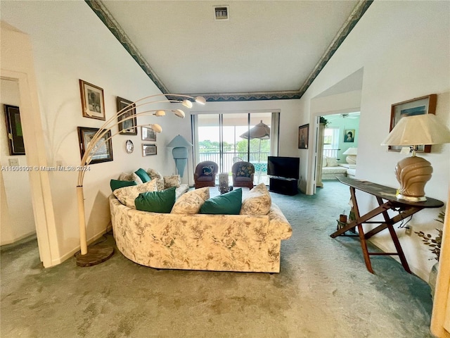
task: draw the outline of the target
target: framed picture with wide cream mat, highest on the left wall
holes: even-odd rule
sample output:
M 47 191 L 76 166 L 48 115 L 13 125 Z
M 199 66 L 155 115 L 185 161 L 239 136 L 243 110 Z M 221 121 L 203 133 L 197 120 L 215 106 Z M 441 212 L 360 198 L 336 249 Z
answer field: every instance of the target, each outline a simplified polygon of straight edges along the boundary
M 103 89 L 83 80 L 79 80 L 82 94 L 82 113 L 85 118 L 105 120 L 105 99 Z

